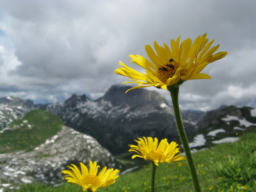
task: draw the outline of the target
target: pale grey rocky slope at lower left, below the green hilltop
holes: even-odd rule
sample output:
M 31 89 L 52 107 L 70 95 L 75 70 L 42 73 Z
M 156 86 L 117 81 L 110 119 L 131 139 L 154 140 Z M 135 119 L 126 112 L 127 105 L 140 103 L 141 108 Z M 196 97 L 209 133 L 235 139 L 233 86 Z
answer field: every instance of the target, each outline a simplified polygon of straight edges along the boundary
M 61 170 L 68 164 L 78 166 L 79 162 L 89 161 L 97 161 L 101 167 L 122 168 L 97 140 L 63 126 L 58 134 L 33 150 L 0 154 L 0 191 L 15 189 L 22 183 L 59 184 Z

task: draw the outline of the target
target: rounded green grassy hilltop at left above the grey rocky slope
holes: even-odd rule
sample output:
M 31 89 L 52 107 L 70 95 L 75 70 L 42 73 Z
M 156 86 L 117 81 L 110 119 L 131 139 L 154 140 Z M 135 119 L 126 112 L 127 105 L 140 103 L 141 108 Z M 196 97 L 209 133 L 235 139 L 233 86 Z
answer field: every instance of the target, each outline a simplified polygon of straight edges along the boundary
M 35 148 L 60 131 L 61 125 L 60 118 L 48 111 L 30 111 L 24 118 L 10 124 L 9 130 L 0 133 L 0 153 Z

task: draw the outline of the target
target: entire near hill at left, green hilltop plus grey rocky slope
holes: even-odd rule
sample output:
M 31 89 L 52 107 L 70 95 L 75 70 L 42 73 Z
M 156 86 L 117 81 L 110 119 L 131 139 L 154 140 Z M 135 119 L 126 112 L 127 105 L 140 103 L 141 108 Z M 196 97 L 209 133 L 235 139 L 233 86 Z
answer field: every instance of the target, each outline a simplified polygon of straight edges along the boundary
M 55 122 L 60 127 L 52 125 Z M 64 126 L 60 118 L 42 109 L 30 111 L 24 118 L 11 124 L 0 133 L 0 138 L 1 151 L 8 151 L 0 154 L 0 191 L 3 188 L 17 188 L 22 183 L 60 184 L 63 177 L 61 170 L 71 163 L 79 166 L 79 162 L 97 161 L 100 166 L 122 168 L 115 157 L 92 136 Z M 10 142 L 8 138 L 14 140 Z M 35 146 L 36 140 L 40 142 L 37 141 Z

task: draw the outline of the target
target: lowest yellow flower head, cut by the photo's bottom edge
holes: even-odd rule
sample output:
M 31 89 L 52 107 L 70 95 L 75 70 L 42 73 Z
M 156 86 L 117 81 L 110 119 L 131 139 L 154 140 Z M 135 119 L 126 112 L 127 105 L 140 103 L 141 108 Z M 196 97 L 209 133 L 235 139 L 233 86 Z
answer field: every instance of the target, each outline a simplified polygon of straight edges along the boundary
M 73 167 L 72 167 L 73 166 Z M 99 175 L 97 175 L 99 165 L 97 162 L 90 161 L 90 168 L 88 168 L 80 163 L 81 172 L 76 165 L 67 166 L 70 170 L 63 170 L 61 173 L 67 174 L 64 179 L 67 179 L 67 182 L 75 183 L 83 187 L 83 191 L 86 191 L 90 188 L 92 191 L 97 191 L 98 188 L 104 188 L 110 184 L 115 183 L 115 179 L 119 177 L 117 175 L 119 170 L 108 169 L 105 166 Z

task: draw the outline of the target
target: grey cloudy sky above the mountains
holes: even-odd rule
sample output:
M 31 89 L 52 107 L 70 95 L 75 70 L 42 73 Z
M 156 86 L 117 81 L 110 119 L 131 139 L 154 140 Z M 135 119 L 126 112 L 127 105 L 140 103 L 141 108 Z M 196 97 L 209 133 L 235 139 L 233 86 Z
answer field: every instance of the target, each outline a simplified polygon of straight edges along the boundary
M 221 104 L 256 108 L 255 0 L 0 0 L 0 97 L 62 102 L 77 93 L 97 99 L 127 81 L 113 71 L 129 54 L 147 57 L 145 45 L 172 38 L 207 38 L 227 51 L 186 81 L 183 109 Z M 147 88 L 170 100 L 166 90 Z

